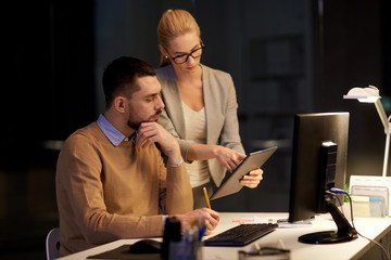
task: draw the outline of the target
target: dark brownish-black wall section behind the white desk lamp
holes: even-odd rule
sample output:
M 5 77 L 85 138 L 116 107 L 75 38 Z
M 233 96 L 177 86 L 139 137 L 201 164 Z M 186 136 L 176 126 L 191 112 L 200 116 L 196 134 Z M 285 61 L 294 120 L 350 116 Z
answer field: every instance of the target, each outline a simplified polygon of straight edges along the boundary
M 318 18 L 323 23 L 319 37 L 324 51 L 318 56 L 323 74 L 317 83 L 317 107 L 351 113 L 348 173 L 380 176 L 384 131 L 375 106 L 342 99 L 351 88 L 368 84 L 377 86 L 384 98 L 389 93 L 381 68 L 386 31 L 380 30 L 380 2 L 325 1 Z

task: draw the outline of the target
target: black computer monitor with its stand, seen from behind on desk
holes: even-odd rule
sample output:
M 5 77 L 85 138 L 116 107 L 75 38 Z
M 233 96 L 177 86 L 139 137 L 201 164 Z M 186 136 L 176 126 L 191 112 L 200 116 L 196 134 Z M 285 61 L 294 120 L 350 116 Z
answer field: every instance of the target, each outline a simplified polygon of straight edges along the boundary
M 351 240 L 356 232 L 336 206 L 331 187 L 345 183 L 349 113 L 298 114 L 294 117 L 289 222 L 330 212 L 338 231 L 306 234 L 299 242 L 330 244 Z M 343 200 L 342 200 L 343 202 Z

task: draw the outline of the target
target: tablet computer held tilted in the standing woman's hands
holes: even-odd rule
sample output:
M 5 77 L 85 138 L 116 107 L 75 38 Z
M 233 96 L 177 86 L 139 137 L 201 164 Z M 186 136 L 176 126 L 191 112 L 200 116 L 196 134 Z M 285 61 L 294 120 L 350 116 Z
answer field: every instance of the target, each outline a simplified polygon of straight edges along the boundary
M 211 199 L 224 197 L 239 192 L 243 187 L 243 185 L 240 184 L 243 176 L 248 174 L 254 169 L 261 168 L 266 162 L 266 160 L 276 152 L 277 148 L 277 146 L 274 146 L 270 148 L 253 152 L 248 155 L 235 169 L 235 171 L 222 183 L 222 185 L 211 196 Z

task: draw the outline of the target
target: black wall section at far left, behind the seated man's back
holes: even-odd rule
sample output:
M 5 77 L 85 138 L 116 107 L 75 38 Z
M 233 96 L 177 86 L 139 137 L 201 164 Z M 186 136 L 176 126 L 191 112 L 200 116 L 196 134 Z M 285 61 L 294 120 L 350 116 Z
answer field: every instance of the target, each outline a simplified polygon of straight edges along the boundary
M 0 259 L 45 259 L 61 143 L 93 120 L 93 1 L 2 2 Z

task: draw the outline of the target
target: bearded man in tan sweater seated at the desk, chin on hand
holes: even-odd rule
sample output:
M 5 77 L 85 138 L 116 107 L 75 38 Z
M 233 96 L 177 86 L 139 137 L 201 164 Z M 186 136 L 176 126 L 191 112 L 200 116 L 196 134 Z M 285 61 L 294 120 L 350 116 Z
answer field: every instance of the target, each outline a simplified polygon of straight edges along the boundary
M 105 68 L 103 89 L 104 114 L 74 132 L 59 155 L 60 253 L 118 238 L 161 236 L 167 217 L 178 218 L 182 230 L 202 217 L 210 233 L 219 214 L 207 208 L 191 211 L 179 145 L 156 123 L 164 104 L 154 69 L 119 57 Z

